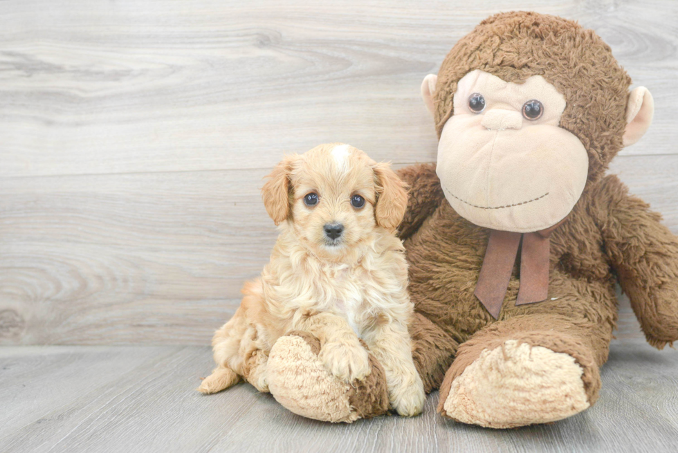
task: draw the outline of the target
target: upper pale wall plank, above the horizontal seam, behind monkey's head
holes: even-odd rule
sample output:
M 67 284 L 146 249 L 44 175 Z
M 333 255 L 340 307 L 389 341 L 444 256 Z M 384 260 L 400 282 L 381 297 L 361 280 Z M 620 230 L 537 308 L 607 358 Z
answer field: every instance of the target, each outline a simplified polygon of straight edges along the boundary
M 430 161 L 419 84 L 508 8 L 594 28 L 654 93 L 627 154 L 675 154 L 672 0 L 0 2 L 0 176 L 271 167 L 342 141 Z

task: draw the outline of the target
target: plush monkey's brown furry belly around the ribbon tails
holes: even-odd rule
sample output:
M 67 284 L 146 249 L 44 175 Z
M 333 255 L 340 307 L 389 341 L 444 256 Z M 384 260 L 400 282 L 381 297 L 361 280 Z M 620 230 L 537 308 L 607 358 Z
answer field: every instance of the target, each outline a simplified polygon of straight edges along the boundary
M 446 204 L 446 203 L 445 203 Z M 446 234 L 441 234 L 446 232 Z M 495 322 L 473 294 L 486 249 L 488 230 L 468 223 L 447 205 L 441 206 L 407 241 L 410 296 L 415 310 L 446 330 L 458 342 Z M 520 287 L 519 264 L 513 268 L 499 320 L 536 313 L 568 319 L 600 320 L 614 326 L 616 299 L 612 280 L 575 278 L 551 270 L 549 298 L 515 306 Z

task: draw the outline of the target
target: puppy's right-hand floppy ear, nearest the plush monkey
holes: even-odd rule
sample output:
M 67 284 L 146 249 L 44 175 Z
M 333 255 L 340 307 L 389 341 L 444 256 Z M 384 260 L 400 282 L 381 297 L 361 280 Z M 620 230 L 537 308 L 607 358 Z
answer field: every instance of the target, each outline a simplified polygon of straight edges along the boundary
M 407 209 L 406 185 L 387 163 L 375 164 L 374 180 L 376 185 L 376 223 L 387 230 L 398 228 Z

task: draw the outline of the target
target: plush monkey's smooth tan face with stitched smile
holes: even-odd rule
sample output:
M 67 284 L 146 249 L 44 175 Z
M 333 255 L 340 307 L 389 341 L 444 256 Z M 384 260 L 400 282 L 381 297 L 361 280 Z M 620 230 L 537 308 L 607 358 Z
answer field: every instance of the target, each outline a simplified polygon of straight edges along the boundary
M 565 98 L 540 75 L 524 84 L 483 71 L 457 84 L 438 145 L 450 205 L 486 228 L 533 232 L 572 210 L 587 180 L 580 140 L 558 127 Z

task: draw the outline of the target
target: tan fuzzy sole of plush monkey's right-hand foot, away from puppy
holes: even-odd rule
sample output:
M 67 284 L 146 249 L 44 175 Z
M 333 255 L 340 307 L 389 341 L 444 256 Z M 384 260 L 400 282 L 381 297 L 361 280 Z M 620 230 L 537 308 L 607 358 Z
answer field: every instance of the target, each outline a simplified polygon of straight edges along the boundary
M 461 423 L 511 428 L 561 420 L 590 406 L 584 369 L 571 355 L 543 346 L 507 340 L 482 351 L 460 374 L 454 368 L 438 409 Z

